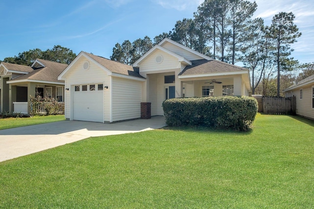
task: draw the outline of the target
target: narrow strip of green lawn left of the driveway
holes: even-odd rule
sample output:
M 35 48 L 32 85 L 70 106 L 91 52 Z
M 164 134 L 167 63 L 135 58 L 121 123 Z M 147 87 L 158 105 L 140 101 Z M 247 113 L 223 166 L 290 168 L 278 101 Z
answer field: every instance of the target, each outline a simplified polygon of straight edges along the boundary
M 65 120 L 64 115 L 56 116 L 33 116 L 33 117 L 22 117 L 22 118 L 1 118 L 0 119 L 0 130 L 8 128 L 16 128 L 21 126 L 36 125 L 41 123 L 50 123 L 55 121 Z

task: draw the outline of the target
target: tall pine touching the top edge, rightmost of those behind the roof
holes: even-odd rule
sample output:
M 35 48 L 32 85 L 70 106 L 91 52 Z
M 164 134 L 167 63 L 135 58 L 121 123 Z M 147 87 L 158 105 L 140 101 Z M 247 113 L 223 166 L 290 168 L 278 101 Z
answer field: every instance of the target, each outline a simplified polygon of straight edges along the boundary
M 248 0 L 230 0 L 230 25 L 231 25 L 231 51 L 232 64 L 235 64 L 235 53 L 239 47 L 248 41 L 249 30 L 253 13 L 257 9 L 257 3 Z

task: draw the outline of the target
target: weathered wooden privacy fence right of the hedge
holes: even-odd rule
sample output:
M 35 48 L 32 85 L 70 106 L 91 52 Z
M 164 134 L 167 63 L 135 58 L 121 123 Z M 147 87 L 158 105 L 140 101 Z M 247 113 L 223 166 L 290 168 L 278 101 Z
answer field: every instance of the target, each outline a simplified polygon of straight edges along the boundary
M 296 99 L 293 97 L 253 96 L 259 103 L 259 112 L 268 115 L 295 115 Z

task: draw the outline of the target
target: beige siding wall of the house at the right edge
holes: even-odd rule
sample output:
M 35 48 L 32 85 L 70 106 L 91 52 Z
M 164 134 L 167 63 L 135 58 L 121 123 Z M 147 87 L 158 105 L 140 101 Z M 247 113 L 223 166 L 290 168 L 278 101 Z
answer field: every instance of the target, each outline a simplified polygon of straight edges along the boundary
M 292 91 L 292 95 L 296 96 L 296 114 L 314 119 L 314 108 L 312 108 L 312 86 L 302 87 L 302 99 L 300 99 L 300 89 Z

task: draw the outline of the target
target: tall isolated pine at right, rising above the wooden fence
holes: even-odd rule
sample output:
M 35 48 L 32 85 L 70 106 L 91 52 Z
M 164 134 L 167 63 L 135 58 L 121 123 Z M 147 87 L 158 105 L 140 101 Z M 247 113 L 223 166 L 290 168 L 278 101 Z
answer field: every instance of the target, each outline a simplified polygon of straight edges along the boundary
M 275 15 L 271 23 L 271 37 L 276 41 L 277 56 L 277 96 L 280 97 L 280 70 L 281 60 L 291 54 L 290 44 L 301 36 L 299 29 L 293 23 L 295 16 L 292 12 L 280 12 Z

